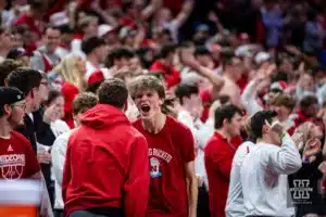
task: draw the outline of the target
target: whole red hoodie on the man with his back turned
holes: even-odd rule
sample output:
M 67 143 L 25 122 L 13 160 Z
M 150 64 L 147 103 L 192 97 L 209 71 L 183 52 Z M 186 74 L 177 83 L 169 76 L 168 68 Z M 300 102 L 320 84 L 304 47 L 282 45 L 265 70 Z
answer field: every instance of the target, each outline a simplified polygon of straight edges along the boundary
M 149 195 L 148 145 L 125 114 L 98 104 L 70 137 L 63 171 L 65 213 L 122 208 L 145 217 Z

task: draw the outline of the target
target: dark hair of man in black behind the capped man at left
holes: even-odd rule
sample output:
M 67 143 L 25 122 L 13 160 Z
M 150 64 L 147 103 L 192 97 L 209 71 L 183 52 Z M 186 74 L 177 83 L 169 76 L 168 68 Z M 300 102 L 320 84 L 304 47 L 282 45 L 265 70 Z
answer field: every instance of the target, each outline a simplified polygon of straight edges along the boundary
M 7 85 L 18 88 L 27 95 L 33 88 L 38 88 L 43 76 L 40 72 L 30 68 L 17 68 L 7 77 Z

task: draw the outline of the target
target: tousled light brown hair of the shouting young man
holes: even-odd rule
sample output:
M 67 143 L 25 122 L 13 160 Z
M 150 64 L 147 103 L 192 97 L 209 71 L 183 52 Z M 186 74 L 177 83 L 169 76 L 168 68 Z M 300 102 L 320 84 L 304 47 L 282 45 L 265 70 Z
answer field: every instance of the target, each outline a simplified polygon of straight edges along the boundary
M 129 91 L 133 99 L 146 90 L 154 90 L 161 99 L 165 99 L 165 88 L 161 80 L 152 75 L 137 76 L 129 85 Z

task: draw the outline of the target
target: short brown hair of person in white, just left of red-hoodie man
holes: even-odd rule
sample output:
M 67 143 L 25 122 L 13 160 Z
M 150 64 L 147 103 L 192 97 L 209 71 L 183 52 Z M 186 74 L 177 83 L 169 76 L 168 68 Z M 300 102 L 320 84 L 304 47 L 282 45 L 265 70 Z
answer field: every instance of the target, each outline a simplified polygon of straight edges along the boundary
M 84 113 L 87 110 L 96 106 L 98 103 L 98 98 L 96 94 L 91 92 L 82 92 L 76 95 L 73 101 L 73 114 L 77 115 L 79 113 Z

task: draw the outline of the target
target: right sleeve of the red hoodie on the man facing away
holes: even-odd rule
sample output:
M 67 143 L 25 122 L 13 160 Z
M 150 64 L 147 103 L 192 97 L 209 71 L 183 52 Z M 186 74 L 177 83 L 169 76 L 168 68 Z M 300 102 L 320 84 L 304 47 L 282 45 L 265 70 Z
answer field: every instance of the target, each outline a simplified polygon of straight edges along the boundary
M 131 148 L 128 178 L 124 184 L 125 216 L 146 216 L 149 183 L 148 145 L 146 139 L 139 136 Z

